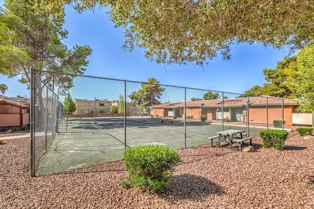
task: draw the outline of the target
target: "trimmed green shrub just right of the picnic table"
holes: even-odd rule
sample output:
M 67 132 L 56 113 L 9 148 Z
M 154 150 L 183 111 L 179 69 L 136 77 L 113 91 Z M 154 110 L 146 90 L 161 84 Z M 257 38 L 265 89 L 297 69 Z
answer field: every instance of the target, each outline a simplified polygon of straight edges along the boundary
M 260 136 L 263 147 L 274 147 L 275 149 L 282 150 L 285 147 L 288 132 L 283 130 L 262 130 Z

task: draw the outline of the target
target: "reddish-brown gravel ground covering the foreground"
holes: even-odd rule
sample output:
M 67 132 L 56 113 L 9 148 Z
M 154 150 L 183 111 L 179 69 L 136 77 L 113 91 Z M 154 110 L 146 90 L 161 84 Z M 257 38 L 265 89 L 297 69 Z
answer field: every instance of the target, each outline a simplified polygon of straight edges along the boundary
M 0 137 L 3 135 L 0 135 Z M 6 135 L 7 136 L 7 135 Z M 313 209 L 314 140 L 289 133 L 282 151 L 233 151 L 209 144 L 179 150 L 172 185 L 162 195 L 126 189 L 123 161 L 29 177 L 29 138 L 0 144 L 0 208 L 30 209 Z

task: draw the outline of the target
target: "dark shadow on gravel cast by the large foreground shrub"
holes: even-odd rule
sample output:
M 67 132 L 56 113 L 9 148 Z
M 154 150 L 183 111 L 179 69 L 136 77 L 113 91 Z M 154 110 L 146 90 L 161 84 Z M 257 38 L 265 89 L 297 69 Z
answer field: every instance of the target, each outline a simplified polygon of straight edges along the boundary
M 182 174 L 172 178 L 171 186 L 163 193 L 166 199 L 200 199 L 209 194 L 221 194 L 221 187 L 197 175 Z

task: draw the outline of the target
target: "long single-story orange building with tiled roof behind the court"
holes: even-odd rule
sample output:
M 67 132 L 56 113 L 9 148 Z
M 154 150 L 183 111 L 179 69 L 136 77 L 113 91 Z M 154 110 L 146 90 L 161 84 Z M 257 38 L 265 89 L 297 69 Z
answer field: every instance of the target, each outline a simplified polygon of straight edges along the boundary
M 186 102 L 186 114 L 184 114 L 184 102 L 169 102 L 153 107 L 154 116 L 182 117 L 200 119 L 205 115 L 207 120 L 222 120 L 268 123 L 274 120 L 282 120 L 285 125 L 292 125 L 292 114 L 296 113 L 299 103 L 292 99 L 284 99 L 272 96 L 257 96 L 244 98 L 227 98 L 214 100 L 199 100 Z M 247 111 L 247 106 L 248 110 Z

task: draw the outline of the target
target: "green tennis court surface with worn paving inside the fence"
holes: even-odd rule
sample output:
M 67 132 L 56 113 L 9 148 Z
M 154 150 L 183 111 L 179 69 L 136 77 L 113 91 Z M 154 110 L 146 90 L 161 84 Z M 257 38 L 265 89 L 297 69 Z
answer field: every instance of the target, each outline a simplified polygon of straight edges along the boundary
M 186 121 L 184 126 L 182 120 L 166 118 L 127 117 L 126 121 L 124 117 L 63 119 L 58 134 L 40 159 L 36 174 L 121 160 L 125 148 L 143 144 L 165 144 L 173 149 L 184 148 L 184 143 L 185 147 L 205 144 L 221 128 L 201 121 Z M 184 137 L 184 133 L 188 135 Z

